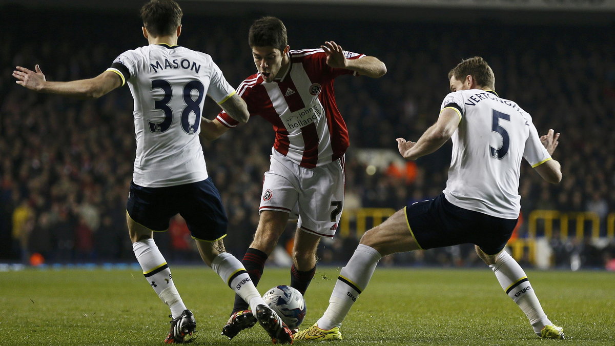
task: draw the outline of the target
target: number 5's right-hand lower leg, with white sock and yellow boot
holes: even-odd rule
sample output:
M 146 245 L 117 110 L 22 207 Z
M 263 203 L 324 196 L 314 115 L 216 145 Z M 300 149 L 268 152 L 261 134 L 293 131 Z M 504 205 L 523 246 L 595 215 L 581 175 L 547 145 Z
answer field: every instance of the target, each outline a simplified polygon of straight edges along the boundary
M 536 335 L 549 339 L 564 339 L 563 329 L 547 318 L 528 277 L 517 261 L 504 250 L 489 255 L 479 246 L 475 246 L 475 249 L 478 257 L 493 270 L 502 289 L 528 316 Z

